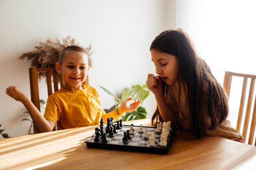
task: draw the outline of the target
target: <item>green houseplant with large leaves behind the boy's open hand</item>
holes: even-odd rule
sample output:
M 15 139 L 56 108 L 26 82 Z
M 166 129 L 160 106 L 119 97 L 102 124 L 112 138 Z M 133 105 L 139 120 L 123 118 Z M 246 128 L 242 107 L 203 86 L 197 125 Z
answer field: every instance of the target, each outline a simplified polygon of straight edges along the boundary
M 117 108 L 119 104 L 122 104 L 122 102 L 127 99 L 128 97 L 133 97 L 133 99 L 140 99 L 143 103 L 144 99 L 148 97 L 149 95 L 149 90 L 146 84 L 140 86 L 140 85 L 135 85 L 130 88 L 124 89 L 124 91 L 121 94 L 121 97 L 115 96 L 113 93 L 108 91 L 106 88 L 103 86 L 99 86 L 102 88 L 106 93 L 109 95 L 113 96 L 115 98 L 115 105 L 112 106 L 110 109 L 105 109 L 106 112 L 110 112 Z M 141 105 L 142 105 L 141 103 Z M 122 116 L 123 121 L 128 121 L 128 120 L 137 120 L 137 119 L 145 119 L 147 115 L 146 109 L 142 106 L 139 106 L 137 110 L 134 110 L 133 112 L 126 113 Z

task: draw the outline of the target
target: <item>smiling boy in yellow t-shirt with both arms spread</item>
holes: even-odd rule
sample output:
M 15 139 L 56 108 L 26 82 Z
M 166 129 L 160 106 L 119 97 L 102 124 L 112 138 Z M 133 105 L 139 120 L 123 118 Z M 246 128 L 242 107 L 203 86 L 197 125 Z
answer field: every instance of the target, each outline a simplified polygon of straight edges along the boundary
M 82 84 L 88 75 L 89 65 L 88 53 L 79 46 L 63 49 L 55 68 L 61 74 L 64 87 L 48 97 L 44 116 L 18 87 L 9 86 L 6 89 L 7 95 L 24 104 L 34 124 L 42 132 L 52 131 L 55 124 L 62 130 L 97 125 L 100 118 L 106 123 L 108 117 L 116 119 L 125 112 L 137 109 L 141 103 L 140 100 L 130 103 L 132 97 L 128 98 L 119 108 L 106 115 L 95 88 Z

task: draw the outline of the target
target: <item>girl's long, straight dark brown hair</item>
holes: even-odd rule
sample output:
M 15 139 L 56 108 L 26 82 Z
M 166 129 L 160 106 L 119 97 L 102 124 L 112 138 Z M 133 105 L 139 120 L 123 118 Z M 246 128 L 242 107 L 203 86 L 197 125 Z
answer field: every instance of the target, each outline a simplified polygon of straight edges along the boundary
M 218 124 L 224 121 L 229 112 L 227 95 L 222 86 L 211 73 L 210 67 L 198 57 L 193 42 L 183 29 L 167 30 L 160 33 L 153 40 L 150 51 L 157 49 L 163 53 L 175 55 L 179 64 L 177 81 L 179 84 L 179 96 L 181 84 L 185 91 L 190 117 L 191 132 L 200 138 L 204 127 L 204 112 L 207 110 L 211 118 L 208 130 L 214 130 Z M 167 85 L 163 82 L 163 94 L 166 95 Z M 205 99 L 207 94 L 207 99 Z M 205 101 L 206 100 L 206 101 Z M 178 101 L 179 103 L 180 101 Z M 204 106 L 204 105 L 207 106 Z M 179 104 L 178 104 L 179 105 Z M 180 106 L 178 106 L 180 107 Z M 162 121 L 157 107 L 151 122 Z

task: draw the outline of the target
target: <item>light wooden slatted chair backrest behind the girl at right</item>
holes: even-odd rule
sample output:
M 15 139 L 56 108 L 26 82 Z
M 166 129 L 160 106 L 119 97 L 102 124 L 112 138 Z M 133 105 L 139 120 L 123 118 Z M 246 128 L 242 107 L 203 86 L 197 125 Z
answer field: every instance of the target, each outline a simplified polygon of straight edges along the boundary
M 247 82 L 248 82 L 248 79 L 251 80 L 250 87 L 249 87 L 249 93 L 248 93 L 247 108 L 245 111 L 245 121 L 244 121 L 244 126 L 243 126 L 243 137 L 244 137 L 244 141 L 245 141 L 246 137 L 247 137 L 248 126 L 249 126 L 249 119 L 250 119 L 250 113 L 251 113 L 251 108 L 252 108 L 252 99 L 253 99 L 253 94 L 254 94 L 256 75 L 248 75 L 248 74 L 233 73 L 233 72 L 226 71 L 225 77 L 224 77 L 223 88 L 226 91 L 228 97 L 230 94 L 231 81 L 232 81 L 233 76 L 244 77 L 241 99 L 240 99 L 240 107 L 239 107 L 239 111 L 238 111 L 238 119 L 237 119 L 237 124 L 236 124 L 236 130 L 239 130 L 239 131 L 241 128 L 243 113 L 244 113 L 245 96 L 247 94 L 246 93 Z M 255 132 L 255 125 L 256 125 L 256 117 L 255 116 L 256 116 L 256 98 L 255 98 L 255 102 L 254 102 L 254 109 L 252 112 L 252 121 L 251 121 L 251 127 L 250 127 L 250 132 L 249 132 L 249 139 L 248 139 L 248 144 L 250 144 L 250 145 L 253 144 L 253 140 L 254 140 L 254 132 Z M 256 141 L 255 141 L 254 145 L 256 146 Z

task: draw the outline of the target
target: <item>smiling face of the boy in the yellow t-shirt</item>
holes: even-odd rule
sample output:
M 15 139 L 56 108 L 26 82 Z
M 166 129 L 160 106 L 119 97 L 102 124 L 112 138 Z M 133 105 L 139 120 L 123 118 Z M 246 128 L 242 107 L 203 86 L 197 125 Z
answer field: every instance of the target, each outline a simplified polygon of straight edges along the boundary
M 56 70 L 61 74 L 67 90 L 82 90 L 89 71 L 88 56 L 85 53 L 67 53 L 63 62 L 56 63 Z

